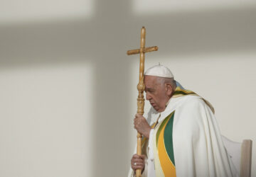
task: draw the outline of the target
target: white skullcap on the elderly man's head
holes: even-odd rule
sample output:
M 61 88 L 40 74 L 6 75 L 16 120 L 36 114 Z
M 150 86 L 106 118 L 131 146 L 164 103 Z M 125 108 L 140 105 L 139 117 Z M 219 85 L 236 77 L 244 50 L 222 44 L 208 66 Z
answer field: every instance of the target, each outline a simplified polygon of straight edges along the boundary
M 168 67 L 164 67 L 160 63 L 147 69 L 144 75 L 174 78 L 174 74 L 171 73 L 170 69 Z

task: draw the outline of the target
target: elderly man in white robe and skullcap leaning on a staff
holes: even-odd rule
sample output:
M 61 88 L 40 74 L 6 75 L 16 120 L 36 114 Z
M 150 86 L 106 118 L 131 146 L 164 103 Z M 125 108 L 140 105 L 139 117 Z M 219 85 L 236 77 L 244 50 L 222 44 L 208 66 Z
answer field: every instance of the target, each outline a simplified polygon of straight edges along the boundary
M 135 115 L 134 128 L 143 135 L 142 156 L 134 154 L 129 176 L 238 176 L 221 139 L 213 107 L 183 89 L 162 65 L 144 74 L 147 118 Z

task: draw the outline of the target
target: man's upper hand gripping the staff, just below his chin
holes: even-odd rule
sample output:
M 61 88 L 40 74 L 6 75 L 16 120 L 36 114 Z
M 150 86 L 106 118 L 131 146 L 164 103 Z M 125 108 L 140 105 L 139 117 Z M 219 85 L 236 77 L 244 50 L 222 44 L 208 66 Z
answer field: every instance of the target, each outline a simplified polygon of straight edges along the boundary
M 149 126 L 148 122 L 146 122 L 146 119 L 138 113 L 135 115 L 135 118 L 134 118 L 134 128 L 140 134 L 144 135 L 144 137 L 149 139 L 149 133 L 150 133 L 151 127 Z

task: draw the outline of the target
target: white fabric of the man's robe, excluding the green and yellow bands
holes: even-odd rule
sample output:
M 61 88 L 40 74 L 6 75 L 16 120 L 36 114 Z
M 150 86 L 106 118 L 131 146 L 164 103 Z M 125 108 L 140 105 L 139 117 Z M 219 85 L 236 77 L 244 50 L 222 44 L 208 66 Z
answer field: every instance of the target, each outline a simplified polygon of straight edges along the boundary
M 217 121 L 212 110 L 199 96 L 171 98 L 161 113 L 159 124 L 173 111 L 173 147 L 176 176 L 226 177 L 239 176 L 223 145 Z M 153 108 L 147 120 L 152 125 L 159 117 Z M 155 177 L 156 131 L 149 136 L 148 159 L 143 175 Z M 158 168 L 156 166 L 156 168 Z M 132 175 L 130 170 L 129 176 Z M 162 176 L 162 175 L 159 175 Z

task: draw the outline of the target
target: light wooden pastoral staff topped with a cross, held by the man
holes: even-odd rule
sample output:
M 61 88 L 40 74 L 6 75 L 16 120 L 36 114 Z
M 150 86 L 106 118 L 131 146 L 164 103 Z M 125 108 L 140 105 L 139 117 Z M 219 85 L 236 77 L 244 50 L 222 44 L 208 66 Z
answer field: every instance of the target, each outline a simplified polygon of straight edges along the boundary
M 157 46 L 154 47 L 145 47 L 145 37 L 146 37 L 146 28 L 143 26 L 141 30 L 141 43 L 140 48 L 135 50 L 128 50 L 127 55 L 139 54 L 139 84 L 137 85 L 137 89 L 139 91 L 139 95 L 137 98 L 137 113 L 140 115 L 144 114 L 144 61 L 145 61 L 145 53 L 153 52 L 158 50 Z M 137 154 L 142 155 L 142 135 L 137 133 Z M 142 176 L 142 171 L 140 169 L 136 170 L 136 176 Z

